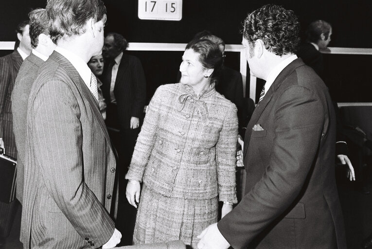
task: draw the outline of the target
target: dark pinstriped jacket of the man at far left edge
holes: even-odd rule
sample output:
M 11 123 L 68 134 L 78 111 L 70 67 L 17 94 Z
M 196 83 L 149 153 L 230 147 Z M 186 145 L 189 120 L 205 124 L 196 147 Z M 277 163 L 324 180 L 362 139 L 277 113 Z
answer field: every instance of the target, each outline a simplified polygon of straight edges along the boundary
M 13 135 L 11 96 L 22 62 L 17 50 L 0 58 L 0 138 L 4 140 L 5 153 L 14 158 L 17 158 L 17 148 Z

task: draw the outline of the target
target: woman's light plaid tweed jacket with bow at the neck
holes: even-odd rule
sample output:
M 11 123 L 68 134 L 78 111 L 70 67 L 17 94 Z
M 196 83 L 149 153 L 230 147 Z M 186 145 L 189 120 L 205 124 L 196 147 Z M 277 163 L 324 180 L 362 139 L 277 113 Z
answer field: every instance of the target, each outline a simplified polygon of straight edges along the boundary
M 170 197 L 236 203 L 237 110 L 214 85 L 196 96 L 183 84 L 160 86 L 146 112 L 125 178 Z

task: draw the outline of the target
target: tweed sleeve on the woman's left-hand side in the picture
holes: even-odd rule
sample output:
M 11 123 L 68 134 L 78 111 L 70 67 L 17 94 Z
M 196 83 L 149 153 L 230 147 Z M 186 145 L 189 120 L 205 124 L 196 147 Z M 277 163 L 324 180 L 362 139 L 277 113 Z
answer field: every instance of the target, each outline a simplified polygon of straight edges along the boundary
M 143 172 L 150 158 L 157 136 L 162 99 L 162 87 L 160 86 L 147 107 L 141 132 L 138 135 L 132 161 L 130 162 L 125 179 L 142 181 Z

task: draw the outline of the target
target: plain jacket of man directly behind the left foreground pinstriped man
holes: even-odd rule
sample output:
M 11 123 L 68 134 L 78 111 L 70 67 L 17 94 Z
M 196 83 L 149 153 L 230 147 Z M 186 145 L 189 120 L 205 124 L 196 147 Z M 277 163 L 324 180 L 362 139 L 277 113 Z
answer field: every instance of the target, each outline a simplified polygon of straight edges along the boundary
M 26 117 L 28 97 L 34 83 L 36 73 L 44 61 L 31 53 L 19 69 L 12 91 L 13 131 L 16 138 L 17 160 L 17 199 L 22 204 L 23 174 L 26 141 Z

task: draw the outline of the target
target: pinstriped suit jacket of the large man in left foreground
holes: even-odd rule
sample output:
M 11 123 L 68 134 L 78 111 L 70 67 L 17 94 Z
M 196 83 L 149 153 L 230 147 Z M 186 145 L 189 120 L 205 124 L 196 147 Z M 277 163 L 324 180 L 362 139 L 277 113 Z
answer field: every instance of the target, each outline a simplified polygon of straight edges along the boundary
M 98 248 L 114 231 L 116 162 L 98 103 L 53 52 L 30 92 L 21 230 L 24 248 Z

